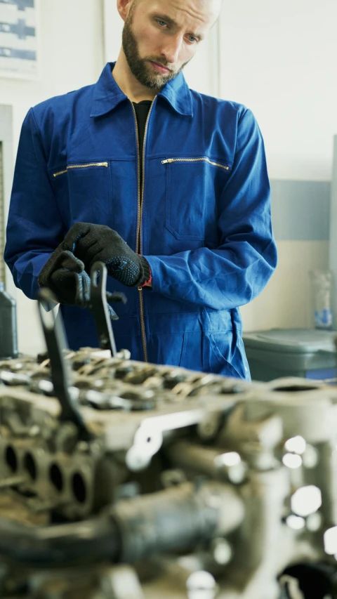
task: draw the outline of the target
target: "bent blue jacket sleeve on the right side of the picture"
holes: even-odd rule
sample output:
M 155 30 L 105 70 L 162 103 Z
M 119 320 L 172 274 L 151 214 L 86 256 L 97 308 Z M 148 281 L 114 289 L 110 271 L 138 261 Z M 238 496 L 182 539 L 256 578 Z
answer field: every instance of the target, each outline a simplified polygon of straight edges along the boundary
M 237 308 L 263 290 L 277 264 L 263 138 L 250 110 L 237 125 L 232 173 L 219 198 L 219 246 L 145 256 L 152 291 L 214 310 Z

